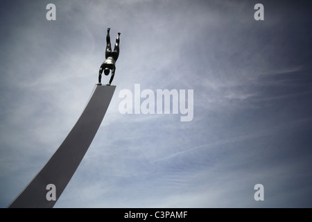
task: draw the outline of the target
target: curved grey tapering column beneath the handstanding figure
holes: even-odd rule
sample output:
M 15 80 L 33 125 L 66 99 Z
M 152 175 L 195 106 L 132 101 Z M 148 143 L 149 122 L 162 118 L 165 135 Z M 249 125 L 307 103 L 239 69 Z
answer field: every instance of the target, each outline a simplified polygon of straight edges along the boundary
M 37 176 L 8 207 L 53 207 L 92 143 L 116 86 L 97 85 L 73 129 Z M 47 200 L 46 185 L 55 185 L 56 200 Z

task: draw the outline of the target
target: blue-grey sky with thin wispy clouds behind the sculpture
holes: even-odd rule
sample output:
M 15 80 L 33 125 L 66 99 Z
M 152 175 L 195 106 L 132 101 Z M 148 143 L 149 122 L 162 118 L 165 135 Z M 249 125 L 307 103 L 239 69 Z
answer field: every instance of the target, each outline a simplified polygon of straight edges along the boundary
M 307 0 L 1 1 L 0 207 L 80 117 L 109 27 L 112 44 L 121 33 L 116 90 L 55 207 L 312 207 L 311 10 Z M 119 92 L 135 84 L 193 89 L 193 119 L 121 114 Z

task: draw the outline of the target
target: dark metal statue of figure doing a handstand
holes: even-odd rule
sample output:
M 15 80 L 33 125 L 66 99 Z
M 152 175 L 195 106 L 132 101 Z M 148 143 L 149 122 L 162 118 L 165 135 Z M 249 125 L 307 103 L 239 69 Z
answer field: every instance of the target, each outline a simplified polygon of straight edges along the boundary
M 102 78 L 103 71 L 104 71 L 105 76 L 108 76 L 108 74 L 110 74 L 110 70 L 112 70 L 112 77 L 110 78 L 110 83 L 106 85 L 110 85 L 112 83 L 112 80 L 114 79 L 114 74 L 116 70 L 115 64 L 119 56 L 119 35 L 120 33 L 118 33 L 117 35 L 114 51 L 112 51 L 112 47 L 110 45 L 110 28 L 107 28 L 105 61 L 102 63 L 100 67 L 100 71 L 98 71 L 98 84 L 97 85 L 102 85 L 101 78 Z

